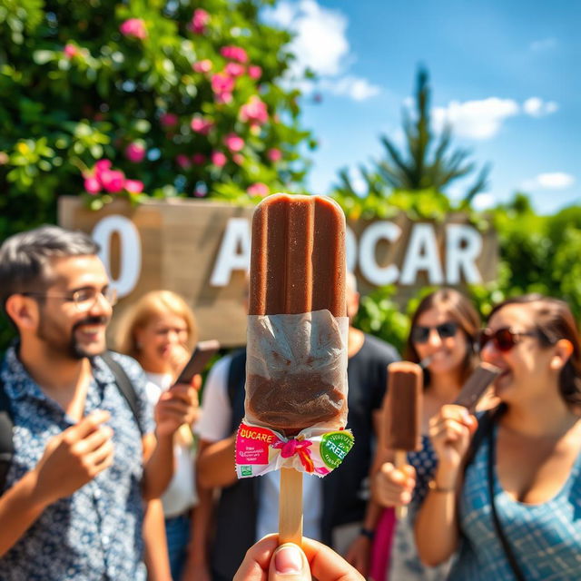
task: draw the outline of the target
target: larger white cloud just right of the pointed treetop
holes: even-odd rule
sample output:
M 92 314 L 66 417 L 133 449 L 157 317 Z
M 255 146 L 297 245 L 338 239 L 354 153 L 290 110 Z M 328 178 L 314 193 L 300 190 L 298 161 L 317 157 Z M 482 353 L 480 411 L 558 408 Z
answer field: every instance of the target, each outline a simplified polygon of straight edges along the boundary
M 432 110 L 434 126 L 441 131 L 445 123 L 452 126 L 454 133 L 470 139 L 494 137 L 507 117 L 513 117 L 520 107 L 513 99 L 488 97 L 481 101 L 451 101 L 447 107 Z

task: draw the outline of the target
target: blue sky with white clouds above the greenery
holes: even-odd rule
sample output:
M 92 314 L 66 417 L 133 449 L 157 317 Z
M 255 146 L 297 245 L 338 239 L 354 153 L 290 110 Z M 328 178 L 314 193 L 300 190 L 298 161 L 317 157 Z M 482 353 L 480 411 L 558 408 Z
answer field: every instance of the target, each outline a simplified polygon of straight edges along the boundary
M 403 143 L 401 110 L 424 64 L 436 125 L 448 120 L 453 143 L 492 164 L 478 207 L 517 190 L 541 213 L 581 203 L 581 2 L 283 0 L 268 18 L 295 31 L 297 68 L 319 74 L 304 89 L 321 103 L 303 100 L 320 140 L 312 192 L 329 192 L 341 167 L 360 182 L 381 134 Z

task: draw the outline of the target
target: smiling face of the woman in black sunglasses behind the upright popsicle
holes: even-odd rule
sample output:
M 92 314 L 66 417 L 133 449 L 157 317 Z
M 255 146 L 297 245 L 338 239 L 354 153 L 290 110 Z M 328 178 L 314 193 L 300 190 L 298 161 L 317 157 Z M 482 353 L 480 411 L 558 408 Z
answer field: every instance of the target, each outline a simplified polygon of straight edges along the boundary
M 467 357 L 468 339 L 458 321 L 452 319 L 448 310 L 437 306 L 425 310 L 416 320 L 415 327 L 420 332 L 412 330 L 414 349 L 420 360 L 430 357 L 428 369 L 432 376 L 456 373 L 462 369 Z M 428 328 L 428 331 L 421 328 Z M 419 341 L 424 339 L 420 338 L 420 335 L 426 333 L 427 338 L 424 338 L 427 340 Z

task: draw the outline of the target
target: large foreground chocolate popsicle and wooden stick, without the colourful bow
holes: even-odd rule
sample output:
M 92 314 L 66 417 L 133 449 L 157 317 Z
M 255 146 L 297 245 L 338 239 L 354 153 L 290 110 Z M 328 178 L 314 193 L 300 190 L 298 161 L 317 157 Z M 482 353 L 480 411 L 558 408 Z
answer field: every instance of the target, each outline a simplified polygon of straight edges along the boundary
M 330 350 L 342 349 L 335 318 L 347 315 L 345 270 L 345 217 L 335 202 L 274 194 L 257 207 L 249 330 L 253 316 L 270 317 L 249 332 L 245 411 L 252 423 L 287 437 L 314 425 L 344 428 L 347 392 L 337 379 L 341 369 L 328 361 Z M 302 314 L 310 312 L 305 323 Z M 281 468 L 280 507 L 281 543 L 300 544 L 302 475 L 294 468 Z

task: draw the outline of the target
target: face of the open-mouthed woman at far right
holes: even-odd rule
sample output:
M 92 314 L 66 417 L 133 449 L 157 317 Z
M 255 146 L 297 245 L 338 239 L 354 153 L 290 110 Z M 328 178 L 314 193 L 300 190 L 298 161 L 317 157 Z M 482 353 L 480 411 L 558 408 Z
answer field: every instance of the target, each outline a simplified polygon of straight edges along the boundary
M 487 341 L 481 350 L 482 360 L 503 370 L 494 386 L 497 396 L 507 403 L 522 397 L 544 397 L 551 384 L 555 384 L 556 389 L 556 372 L 550 369 L 555 348 L 541 346 L 534 336 L 532 321 L 535 316 L 536 310 L 530 303 L 507 304 L 488 321 L 492 333 L 506 328 L 515 333 L 532 333 L 517 335 L 510 350 L 499 350 L 493 340 Z

